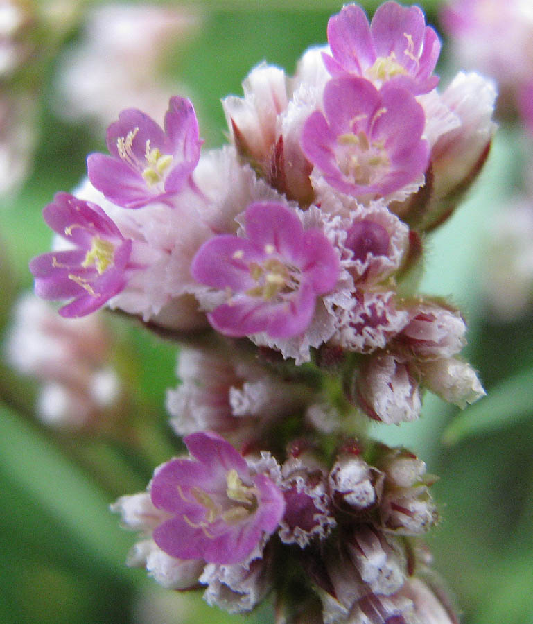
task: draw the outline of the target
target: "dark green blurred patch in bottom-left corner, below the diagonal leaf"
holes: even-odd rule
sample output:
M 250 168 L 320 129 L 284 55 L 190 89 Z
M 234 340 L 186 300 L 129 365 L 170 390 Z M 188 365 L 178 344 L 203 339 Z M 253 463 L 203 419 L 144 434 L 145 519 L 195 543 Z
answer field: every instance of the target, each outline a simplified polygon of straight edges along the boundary
M 127 624 L 132 584 L 0 470 L 2 624 Z M 53 605 L 53 609 L 51 609 Z

